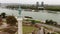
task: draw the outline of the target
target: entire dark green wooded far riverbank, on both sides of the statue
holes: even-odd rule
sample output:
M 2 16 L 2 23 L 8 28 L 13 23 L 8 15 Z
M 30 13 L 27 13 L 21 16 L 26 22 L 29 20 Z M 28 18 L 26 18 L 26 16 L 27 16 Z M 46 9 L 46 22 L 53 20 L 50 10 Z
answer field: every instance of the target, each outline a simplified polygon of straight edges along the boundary
M 18 9 L 19 8 L 19 6 L 7 6 L 6 8 L 10 8 L 10 9 Z M 42 8 L 36 8 L 36 6 L 24 6 L 24 5 L 22 5 L 21 6 L 21 8 L 22 9 L 32 9 L 32 10 L 51 10 L 51 11 L 60 11 L 60 6 L 48 6 L 48 5 L 46 5 L 46 6 L 44 6 L 44 8 L 42 9 Z

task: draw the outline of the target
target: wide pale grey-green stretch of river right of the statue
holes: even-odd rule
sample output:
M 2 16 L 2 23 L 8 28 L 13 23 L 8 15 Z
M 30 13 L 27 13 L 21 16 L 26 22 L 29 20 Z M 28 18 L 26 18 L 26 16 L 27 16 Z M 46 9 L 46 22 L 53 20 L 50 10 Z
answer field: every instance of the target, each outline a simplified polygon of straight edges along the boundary
M 48 11 L 48 10 L 39 10 L 39 12 L 32 12 L 32 11 L 24 11 L 22 10 L 22 14 L 24 16 L 30 16 L 33 17 L 33 19 L 45 21 L 46 19 L 48 20 L 53 20 L 58 22 L 60 24 L 60 12 L 58 11 Z

